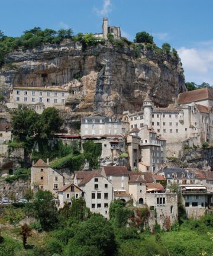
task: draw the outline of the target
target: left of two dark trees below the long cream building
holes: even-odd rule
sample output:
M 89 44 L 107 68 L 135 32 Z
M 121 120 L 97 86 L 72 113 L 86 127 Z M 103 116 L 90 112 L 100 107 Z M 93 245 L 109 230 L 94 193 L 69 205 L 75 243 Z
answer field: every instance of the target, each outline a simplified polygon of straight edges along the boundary
M 37 132 L 38 114 L 27 107 L 17 108 L 12 112 L 12 133 L 15 136 L 32 136 Z

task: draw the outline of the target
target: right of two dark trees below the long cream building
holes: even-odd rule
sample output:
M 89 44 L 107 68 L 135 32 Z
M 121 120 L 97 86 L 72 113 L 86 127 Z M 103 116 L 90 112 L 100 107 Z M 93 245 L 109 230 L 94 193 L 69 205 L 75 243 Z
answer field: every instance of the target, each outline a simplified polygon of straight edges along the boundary
M 63 121 L 59 116 L 59 112 L 54 107 L 45 108 L 40 115 L 39 129 L 43 139 L 53 137 L 54 133 L 59 132 Z

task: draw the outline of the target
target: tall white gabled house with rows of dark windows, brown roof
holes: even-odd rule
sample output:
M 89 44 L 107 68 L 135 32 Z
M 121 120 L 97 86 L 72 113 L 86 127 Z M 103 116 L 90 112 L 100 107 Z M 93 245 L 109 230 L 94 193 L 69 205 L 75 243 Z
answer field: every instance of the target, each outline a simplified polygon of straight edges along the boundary
M 101 170 L 76 171 L 74 184 L 83 191 L 86 206 L 93 213 L 109 218 L 109 206 L 114 199 L 112 183 L 101 174 Z

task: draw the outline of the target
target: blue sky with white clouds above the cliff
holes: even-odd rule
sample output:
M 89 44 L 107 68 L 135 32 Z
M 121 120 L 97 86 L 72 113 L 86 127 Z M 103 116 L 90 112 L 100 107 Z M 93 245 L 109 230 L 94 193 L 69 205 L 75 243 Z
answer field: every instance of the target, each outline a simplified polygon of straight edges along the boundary
M 212 0 L 0 0 L 0 30 L 20 36 L 33 27 L 101 33 L 102 18 L 133 40 L 147 31 L 157 46 L 178 50 L 186 82 L 213 85 Z

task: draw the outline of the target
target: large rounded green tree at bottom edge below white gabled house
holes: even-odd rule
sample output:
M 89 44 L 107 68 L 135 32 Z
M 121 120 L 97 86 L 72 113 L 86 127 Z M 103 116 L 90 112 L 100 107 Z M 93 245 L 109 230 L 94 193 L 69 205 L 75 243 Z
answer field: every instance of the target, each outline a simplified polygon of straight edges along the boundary
M 92 215 L 79 223 L 75 235 L 65 248 L 65 255 L 110 256 L 117 246 L 111 224 L 101 215 Z

